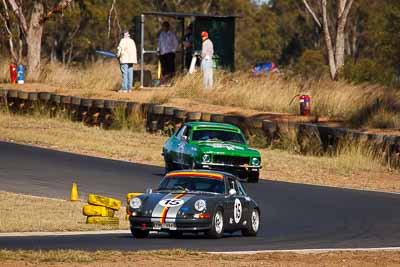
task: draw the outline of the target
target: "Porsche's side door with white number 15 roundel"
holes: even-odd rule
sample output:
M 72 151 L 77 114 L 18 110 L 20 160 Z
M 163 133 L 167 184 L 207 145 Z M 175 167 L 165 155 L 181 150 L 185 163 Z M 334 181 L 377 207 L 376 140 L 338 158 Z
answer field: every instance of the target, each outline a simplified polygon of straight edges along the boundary
M 228 176 L 226 178 L 226 192 L 228 194 L 225 196 L 225 208 L 224 208 L 224 219 L 225 219 L 225 229 L 234 230 L 240 229 L 245 220 L 243 208 L 245 205 L 245 195 L 243 195 L 243 190 L 239 189 L 236 179 L 234 177 Z M 231 189 L 235 190 L 235 194 L 229 194 Z

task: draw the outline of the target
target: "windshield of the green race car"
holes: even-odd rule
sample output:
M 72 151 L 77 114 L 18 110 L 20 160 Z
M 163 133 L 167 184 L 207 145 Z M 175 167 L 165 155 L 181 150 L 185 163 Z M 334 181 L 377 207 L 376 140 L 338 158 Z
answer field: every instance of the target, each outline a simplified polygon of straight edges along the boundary
M 241 134 L 223 130 L 195 130 L 192 141 L 222 141 L 244 144 Z

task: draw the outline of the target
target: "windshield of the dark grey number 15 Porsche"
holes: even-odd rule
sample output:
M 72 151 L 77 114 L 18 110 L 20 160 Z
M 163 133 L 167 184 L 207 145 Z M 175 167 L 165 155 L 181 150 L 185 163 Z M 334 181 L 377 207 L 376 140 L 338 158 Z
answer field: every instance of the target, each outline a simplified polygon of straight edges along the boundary
M 205 178 L 205 177 L 165 177 L 159 187 L 158 191 L 203 191 L 211 193 L 225 193 L 225 184 L 223 179 Z

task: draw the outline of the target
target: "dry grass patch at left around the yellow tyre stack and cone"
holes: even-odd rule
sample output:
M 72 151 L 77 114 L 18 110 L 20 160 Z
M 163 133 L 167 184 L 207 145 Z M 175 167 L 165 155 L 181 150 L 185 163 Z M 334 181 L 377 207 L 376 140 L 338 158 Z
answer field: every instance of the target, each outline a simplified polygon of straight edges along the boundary
M 119 226 L 86 224 L 84 202 L 33 197 L 0 191 L 0 232 L 129 229 L 125 208 L 115 213 Z M 27 208 L 28 207 L 28 208 Z

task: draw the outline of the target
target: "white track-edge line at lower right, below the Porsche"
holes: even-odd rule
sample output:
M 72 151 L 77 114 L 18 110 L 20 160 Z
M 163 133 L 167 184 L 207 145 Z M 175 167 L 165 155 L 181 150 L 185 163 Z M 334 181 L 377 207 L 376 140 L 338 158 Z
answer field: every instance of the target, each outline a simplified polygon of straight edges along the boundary
M 368 252 L 368 251 L 400 251 L 400 247 L 277 249 L 277 250 L 252 250 L 252 251 L 222 251 L 222 252 L 208 252 L 208 253 L 210 253 L 210 254 L 258 254 L 258 253 L 318 254 L 318 253 L 327 253 L 327 252 Z

